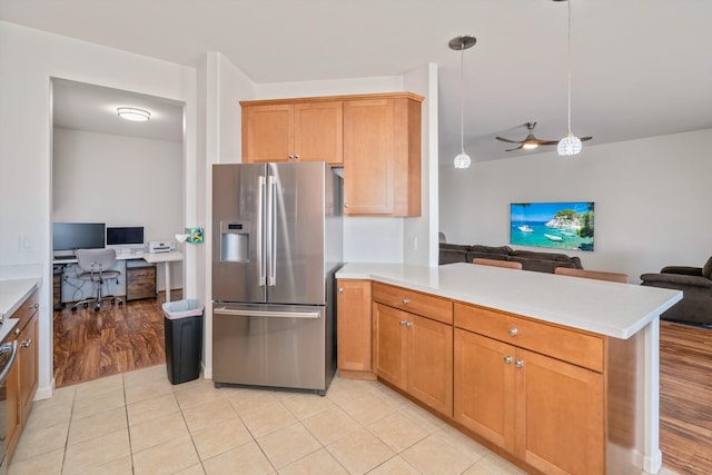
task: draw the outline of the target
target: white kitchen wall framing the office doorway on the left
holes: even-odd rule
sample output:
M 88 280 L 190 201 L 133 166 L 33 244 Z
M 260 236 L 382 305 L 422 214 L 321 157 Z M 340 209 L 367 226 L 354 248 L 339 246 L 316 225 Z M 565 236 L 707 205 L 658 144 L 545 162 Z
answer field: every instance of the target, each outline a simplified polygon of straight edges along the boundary
M 39 314 L 38 397 L 52 379 L 51 78 L 62 78 L 181 101 L 186 110 L 184 166 L 196 164 L 196 71 L 0 21 L 0 267 L 1 275 L 42 278 Z M 195 174 L 186 172 L 186 182 Z M 192 192 L 190 192 L 192 191 Z M 186 216 L 196 214 L 195 187 L 186 188 Z M 32 243 L 19 249 L 19 236 Z M 184 265 L 195 263 L 190 256 Z M 187 291 L 195 291 L 188 286 Z

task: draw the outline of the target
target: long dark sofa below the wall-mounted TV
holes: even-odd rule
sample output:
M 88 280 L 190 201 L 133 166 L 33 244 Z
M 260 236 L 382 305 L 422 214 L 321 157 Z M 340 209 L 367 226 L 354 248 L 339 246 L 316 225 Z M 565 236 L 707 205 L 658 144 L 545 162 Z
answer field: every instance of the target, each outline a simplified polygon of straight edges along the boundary
M 510 246 L 439 244 L 439 264 L 472 263 L 476 257 L 511 260 L 522 264 L 523 270 L 554 274 L 556 267 L 583 269 L 581 259 L 558 253 L 515 250 Z

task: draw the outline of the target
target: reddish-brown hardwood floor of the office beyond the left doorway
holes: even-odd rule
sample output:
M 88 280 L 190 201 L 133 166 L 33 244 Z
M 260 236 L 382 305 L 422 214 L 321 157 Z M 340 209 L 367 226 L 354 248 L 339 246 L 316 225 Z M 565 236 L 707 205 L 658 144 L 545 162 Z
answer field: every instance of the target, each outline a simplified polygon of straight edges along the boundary
M 180 299 L 174 290 L 171 299 Z M 100 311 L 69 306 L 55 311 L 57 387 L 155 366 L 166 362 L 164 294 L 156 299 L 106 305 Z

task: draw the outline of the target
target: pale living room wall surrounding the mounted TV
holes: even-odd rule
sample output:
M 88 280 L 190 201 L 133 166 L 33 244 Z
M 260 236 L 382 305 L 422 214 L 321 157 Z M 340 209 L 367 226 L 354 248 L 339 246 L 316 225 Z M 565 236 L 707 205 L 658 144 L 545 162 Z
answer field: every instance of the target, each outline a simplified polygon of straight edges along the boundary
M 701 267 L 712 255 L 710 144 L 712 129 L 441 169 L 441 230 L 449 243 L 500 246 L 511 202 L 594 201 L 595 250 L 566 253 L 584 268 L 640 283 L 663 266 Z

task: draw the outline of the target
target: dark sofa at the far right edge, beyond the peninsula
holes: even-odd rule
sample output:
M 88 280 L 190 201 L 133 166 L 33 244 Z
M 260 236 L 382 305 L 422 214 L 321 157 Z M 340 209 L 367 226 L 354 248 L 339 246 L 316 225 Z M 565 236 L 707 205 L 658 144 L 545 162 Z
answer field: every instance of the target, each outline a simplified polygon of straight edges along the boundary
M 702 267 L 668 266 L 643 274 L 641 285 L 682 290 L 682 300 L 663 311 L 671 321 L 712 326 L 712 257 Z

